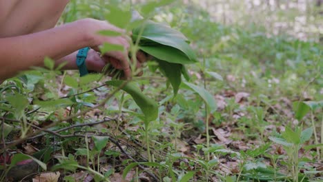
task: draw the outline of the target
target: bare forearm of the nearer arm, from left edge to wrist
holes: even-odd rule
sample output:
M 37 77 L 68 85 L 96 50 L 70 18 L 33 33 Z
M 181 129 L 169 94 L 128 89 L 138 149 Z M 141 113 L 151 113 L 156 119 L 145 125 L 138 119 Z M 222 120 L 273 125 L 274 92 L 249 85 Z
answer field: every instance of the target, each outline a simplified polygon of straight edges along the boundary
M 80 48 L 92 46 L 92 39 L 83 27 L 84 21 L 75 21 L 43 32 L 0 39 L 3 68 L 0 79 L 12 77 L 30 66 L 41 66 L 44 57 L 60 60 Z

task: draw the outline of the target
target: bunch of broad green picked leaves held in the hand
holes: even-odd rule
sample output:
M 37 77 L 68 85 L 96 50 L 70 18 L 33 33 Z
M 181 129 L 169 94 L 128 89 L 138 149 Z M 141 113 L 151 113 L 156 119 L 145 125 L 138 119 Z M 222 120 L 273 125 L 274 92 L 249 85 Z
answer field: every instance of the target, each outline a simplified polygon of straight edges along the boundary
M 133 41 L 138 38 L 139 50 L 153 56 L 153 61 L 158 63 L 157 68 L 167 77 L 176 95 L 182 74 L 189 80 L 185 64 L 197 62 L 188 39 L 170 26 L 154 21 L 146 21 L 133 30 Z

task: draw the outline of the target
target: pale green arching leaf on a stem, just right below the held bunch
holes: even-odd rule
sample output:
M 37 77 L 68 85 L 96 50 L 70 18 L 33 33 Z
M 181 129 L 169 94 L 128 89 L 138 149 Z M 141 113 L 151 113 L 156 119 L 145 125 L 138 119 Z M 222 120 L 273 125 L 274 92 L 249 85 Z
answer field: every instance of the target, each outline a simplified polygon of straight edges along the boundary
M 213 113 L 215 112 L 215 110 L 217 110 L 215 99 L 213 98 L 213 95 L 208 92 L 208 90 L 205 90 L 205 88 L 188 82 L 184 82 L 184 84 L 187 85 L 190 89 L 194 90 L 197 94 L 199 94 L 200 97 L 202 97 L 202 99 L 206 102 L 206 105 L 208 105 L 210 113 Z

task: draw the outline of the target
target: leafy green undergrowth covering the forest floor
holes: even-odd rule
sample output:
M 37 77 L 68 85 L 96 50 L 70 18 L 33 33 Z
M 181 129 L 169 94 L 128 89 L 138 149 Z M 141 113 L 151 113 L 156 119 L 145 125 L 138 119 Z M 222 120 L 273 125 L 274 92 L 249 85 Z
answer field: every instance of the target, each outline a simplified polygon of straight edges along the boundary
M 32 157 L 59 181 L 322 181 L 322 42 L 223 25 L 197 4 L 118 2 L 71 1 L 60 22 L 106 19 L 110 6 L 149 12 L 190 40 L 190 82 L 175 96 L 148 62 L 133 79 L 158 103 L 148 122 L 110 78 L 46 59 L 0 85 L 1 152 Z

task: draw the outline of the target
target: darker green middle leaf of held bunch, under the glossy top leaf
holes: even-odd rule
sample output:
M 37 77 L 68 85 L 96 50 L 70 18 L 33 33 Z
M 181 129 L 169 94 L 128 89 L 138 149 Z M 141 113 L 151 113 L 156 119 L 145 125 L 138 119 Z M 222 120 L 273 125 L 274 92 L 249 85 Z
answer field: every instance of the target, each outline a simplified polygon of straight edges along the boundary
M 139 50 L 152 55 L 153 57 L 169 63 L 189 64 L 195 63 L 183 52 L 167 45 L 141 45 Z

